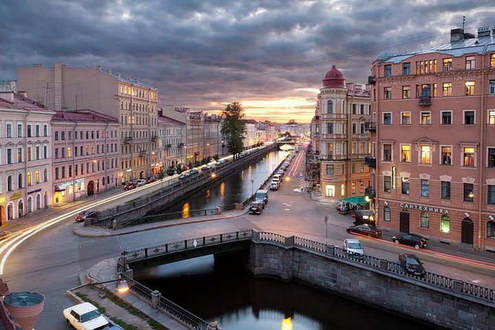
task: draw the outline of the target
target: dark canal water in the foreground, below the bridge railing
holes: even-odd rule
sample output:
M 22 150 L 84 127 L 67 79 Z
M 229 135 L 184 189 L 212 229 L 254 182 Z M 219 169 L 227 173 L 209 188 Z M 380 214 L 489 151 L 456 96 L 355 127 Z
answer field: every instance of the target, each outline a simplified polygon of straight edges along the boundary
M 300 283 L 252 278 L 234 254 L 204 256 L 135 272 L 157 289 L 224 330 L 434 329 Z

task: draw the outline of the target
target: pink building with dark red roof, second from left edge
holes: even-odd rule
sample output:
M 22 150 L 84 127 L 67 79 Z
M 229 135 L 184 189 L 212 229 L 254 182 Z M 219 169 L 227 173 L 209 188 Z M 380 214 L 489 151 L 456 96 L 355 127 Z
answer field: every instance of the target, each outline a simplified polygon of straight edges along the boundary
M 94 197 L 120 185 L 120 125 L 90 110 L 56 111 L 52 117 L 54 205 Z

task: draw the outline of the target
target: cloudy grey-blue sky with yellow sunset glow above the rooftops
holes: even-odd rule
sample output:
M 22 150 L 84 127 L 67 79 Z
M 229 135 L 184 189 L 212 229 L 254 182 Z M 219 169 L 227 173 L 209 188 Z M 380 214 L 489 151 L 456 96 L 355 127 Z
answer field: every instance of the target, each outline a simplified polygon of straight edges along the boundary
M 495 26 L 493 1 L 2 0 L 0 80 L 56 61 L 111 68 L 163 104 L 307 122 L 331 65 L 365 83 L 380 50 L 444 43 Z

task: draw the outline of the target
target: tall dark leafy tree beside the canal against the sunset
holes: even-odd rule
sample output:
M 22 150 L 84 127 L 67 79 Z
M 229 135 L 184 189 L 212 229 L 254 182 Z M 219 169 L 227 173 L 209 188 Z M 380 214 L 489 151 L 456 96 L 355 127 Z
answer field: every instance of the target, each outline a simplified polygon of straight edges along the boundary
M 243 150 L 244 135 L 247 131 L 243 121 L 244 109 L 241 102 L 232 102 L 227 104 L 221 114 L 223 117 L 221 133 L 227 137 L 228 150 L 236 159 Z

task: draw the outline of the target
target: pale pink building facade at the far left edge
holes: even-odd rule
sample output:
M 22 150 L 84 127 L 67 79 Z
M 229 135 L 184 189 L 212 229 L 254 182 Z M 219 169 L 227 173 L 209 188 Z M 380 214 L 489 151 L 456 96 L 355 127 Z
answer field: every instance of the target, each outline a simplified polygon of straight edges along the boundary
M 0 92 L 0 220 L 51 205 L 54 111 L 25 94 Z

